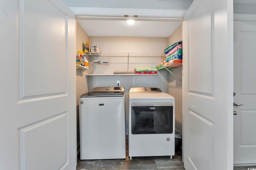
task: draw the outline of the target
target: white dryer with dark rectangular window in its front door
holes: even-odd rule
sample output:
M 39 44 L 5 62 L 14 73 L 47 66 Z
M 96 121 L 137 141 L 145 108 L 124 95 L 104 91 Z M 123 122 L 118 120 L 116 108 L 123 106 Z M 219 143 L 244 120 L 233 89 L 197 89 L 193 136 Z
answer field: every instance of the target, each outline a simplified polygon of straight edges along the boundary
M 175 154 L 174 97 L 159 88 L 129 91 L 129 157 Z

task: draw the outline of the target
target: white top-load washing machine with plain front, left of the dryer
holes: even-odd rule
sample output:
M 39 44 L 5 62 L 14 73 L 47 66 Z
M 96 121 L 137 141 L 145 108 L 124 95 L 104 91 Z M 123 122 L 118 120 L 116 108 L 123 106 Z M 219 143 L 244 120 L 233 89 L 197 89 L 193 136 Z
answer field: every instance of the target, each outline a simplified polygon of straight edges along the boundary
M 80 159 L 126 158 L 123 87 L 96 87 L 79 99 Z

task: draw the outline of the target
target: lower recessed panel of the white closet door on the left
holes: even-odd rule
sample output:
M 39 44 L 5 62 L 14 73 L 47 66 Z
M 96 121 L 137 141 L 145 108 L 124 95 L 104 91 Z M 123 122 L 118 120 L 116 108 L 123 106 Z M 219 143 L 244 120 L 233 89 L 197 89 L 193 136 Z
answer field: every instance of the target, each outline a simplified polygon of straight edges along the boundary
M 21 169 L 64 168 L 68 164 L 67 128 L 66 113 L 20 127 Z

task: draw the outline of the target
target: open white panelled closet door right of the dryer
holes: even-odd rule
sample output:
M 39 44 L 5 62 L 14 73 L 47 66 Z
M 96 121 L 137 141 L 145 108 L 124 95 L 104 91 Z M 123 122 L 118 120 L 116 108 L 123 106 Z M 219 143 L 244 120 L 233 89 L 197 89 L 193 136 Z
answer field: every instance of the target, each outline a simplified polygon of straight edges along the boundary
M 194 0 L 183 22 L 186 170 L 233 169 L 233 1 Z

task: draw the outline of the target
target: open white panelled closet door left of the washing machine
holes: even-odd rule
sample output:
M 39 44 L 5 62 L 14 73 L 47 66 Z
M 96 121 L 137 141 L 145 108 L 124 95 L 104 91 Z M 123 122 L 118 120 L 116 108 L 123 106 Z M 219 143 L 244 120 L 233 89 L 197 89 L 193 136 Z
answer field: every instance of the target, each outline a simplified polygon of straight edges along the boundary
M 0 169 L 75 170 L 75 16 L 60 0 L 0 6 Z

